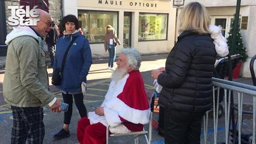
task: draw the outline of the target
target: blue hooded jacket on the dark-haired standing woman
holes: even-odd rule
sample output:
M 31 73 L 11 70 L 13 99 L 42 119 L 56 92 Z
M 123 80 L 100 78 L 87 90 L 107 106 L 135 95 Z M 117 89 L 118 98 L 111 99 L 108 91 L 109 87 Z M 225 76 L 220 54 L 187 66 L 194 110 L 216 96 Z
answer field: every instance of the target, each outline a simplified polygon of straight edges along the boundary
M 66 62 L 62 70 L 61 85 L 56 86 L 56 88 L 65 92 L 79 93 L 82 91 L 81 83 L 87 82 L 87 74 L 92 64 L 91 47 L 82 34 L 76 32 L 58 39 L 53 70 L 61 68 L 64 53 L 74 37 L 77 38 L 67 53 Z

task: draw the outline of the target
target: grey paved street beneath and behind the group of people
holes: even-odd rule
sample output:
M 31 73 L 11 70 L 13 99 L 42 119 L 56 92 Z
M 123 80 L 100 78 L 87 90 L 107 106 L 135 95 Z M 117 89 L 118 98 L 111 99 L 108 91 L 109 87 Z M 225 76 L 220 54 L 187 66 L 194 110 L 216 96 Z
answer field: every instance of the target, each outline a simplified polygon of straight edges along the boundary
M 145 87 L 154 91 L 153 87 L 153 78 L 150 76 L 150 70 L 163 67 L 165 65 L 165 58 L 167 54 L 162 55 L 148 55 L 142 56 L 142 64 L 141 64 L 141 73 L 144 79 Z M 87 111 L 93 111 L 90 107 L 91 104 L 99 106 L 108 90 L 109 82 L 111 81 L 110 77 L 112 71 L 107 69 L 107 61 L 106 59 L 97 59 L 93 61 L 93 65 L 91 65 L 90 74 L 88 74 L 88 91 L 87 96 L 84 97 L 84 103 L 87 107 Z M 115 65 L 116 66 L 116 65 Z M 52 69 L 48 68 L 49 72 L 49 80 L 52 76 Z M 11 125 L 12 125 L 12 115 L 10 111 L 10 106 L 6 104 L 3 100 L 2 96 L 2 82 L 4 77 L 4 70 L 0 71 L 0 127 L 1 127 L 1 135 L 0 143 L 10 143 L 11 136 Z M 252 85 L 251 79 L 236 79 L 237 82 L 249 83 Z M 55 88 L 55 86 L 50 86 L 50 91 L 57 95 L 59 99 L 62 100 L 61 93 Z M 245 103 L 250 103 L 251 100 L 247 100 L 245 98 Z M 55 140 L 52 136 L 55 133 L 58 133 L 62 128 L 63 122 L 63 112 L 61 113 L 53 113 L 49 110 L 49 107 L 44 107 L 44 124 L 46 127 L 46 135 L 44 137 L 44 143 L 78 143 L 76 139 L 76 122 L 79 119 L 79 113 L 76 109 L 75 103 L 73 104 L 73 116 L 70 124 L 70 133 L 71 136 L 67 139 Z M 158 113 L 154 113 L 154 119 L 158 119 Z M 224 142 L 225 136 L 225 127 L 224 127 L 224 117 L 219 119 L 219 127 L 218 127 L 218 142 Z M 251 118 L 245 118 L 244 121 L 245 127 L 250 127 Z M 213 120 L 212 115 L 209 116 L 209 130 L 207 143 L 213 143 Z M 132 137 L 125 137 L 122 139 L 114 138 L 111 139 L 112 143 L 134 143 Z M 203 143 L 203 131 L 201 135 L 201 142 Z M 145 143 L 144 137 L 142 136 L 139 143 Z M 157 131 L 153 129 L 153 143 L 163 143 L 163 137 L 157 135 Z

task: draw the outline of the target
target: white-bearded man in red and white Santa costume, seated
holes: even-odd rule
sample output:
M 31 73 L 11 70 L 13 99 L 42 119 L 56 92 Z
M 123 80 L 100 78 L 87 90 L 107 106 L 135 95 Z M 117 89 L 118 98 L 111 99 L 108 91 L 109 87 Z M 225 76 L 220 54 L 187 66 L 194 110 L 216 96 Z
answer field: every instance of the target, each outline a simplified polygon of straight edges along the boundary
M 112 74 L 105 100 L 95 112 L 78 121 L 79 143 L 106 143 L 106 126 L 110 133 L 141 131 L 149 122 L 150 107 L 139 67 L 141 56 L 135 48 L 122 49 Z

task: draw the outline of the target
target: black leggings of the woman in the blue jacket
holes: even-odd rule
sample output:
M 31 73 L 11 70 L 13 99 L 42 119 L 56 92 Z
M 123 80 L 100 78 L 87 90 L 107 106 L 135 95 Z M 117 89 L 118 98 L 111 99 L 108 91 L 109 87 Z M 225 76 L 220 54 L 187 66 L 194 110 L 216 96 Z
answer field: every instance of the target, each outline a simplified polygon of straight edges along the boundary
M 70 124 L 70 119 L 73 112 L 73 95 L 72 94 L 63 94 L 63 101 L 64 103 L 69 104 L 69 109 L 67 112 L 64 112 L 64 124 Z M 87 110 L 84 104 L 84 95 L 81 94 L 74 94 L 74 100 L 76 107 L 78 107 L 78 112 L 81 118 L 87 116 Z

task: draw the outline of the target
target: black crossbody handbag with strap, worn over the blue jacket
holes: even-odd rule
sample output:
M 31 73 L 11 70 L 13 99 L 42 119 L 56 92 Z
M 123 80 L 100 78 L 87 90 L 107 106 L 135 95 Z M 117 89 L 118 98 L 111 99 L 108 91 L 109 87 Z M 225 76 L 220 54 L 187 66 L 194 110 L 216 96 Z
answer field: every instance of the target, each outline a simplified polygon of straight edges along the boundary
M 74 41 L 76 40 L 76 38 L 77 37 L 73 37 L 72 41 L 70 41 L 70 44 L 67 47 L 66 52 L 65 52 L 65 54 L 63 56 L 63 59 L 62 59 L 61 68 L 56 68 L 55 70 L 53 70 L 52 85 L 57 86 L 57 85 L 61 84 L 62 70 L 63 70 L 65 62 L 66 62 L 67 52 L 69 52 L 69 49 L 72 46 L 72 44 L 74 43 Z

